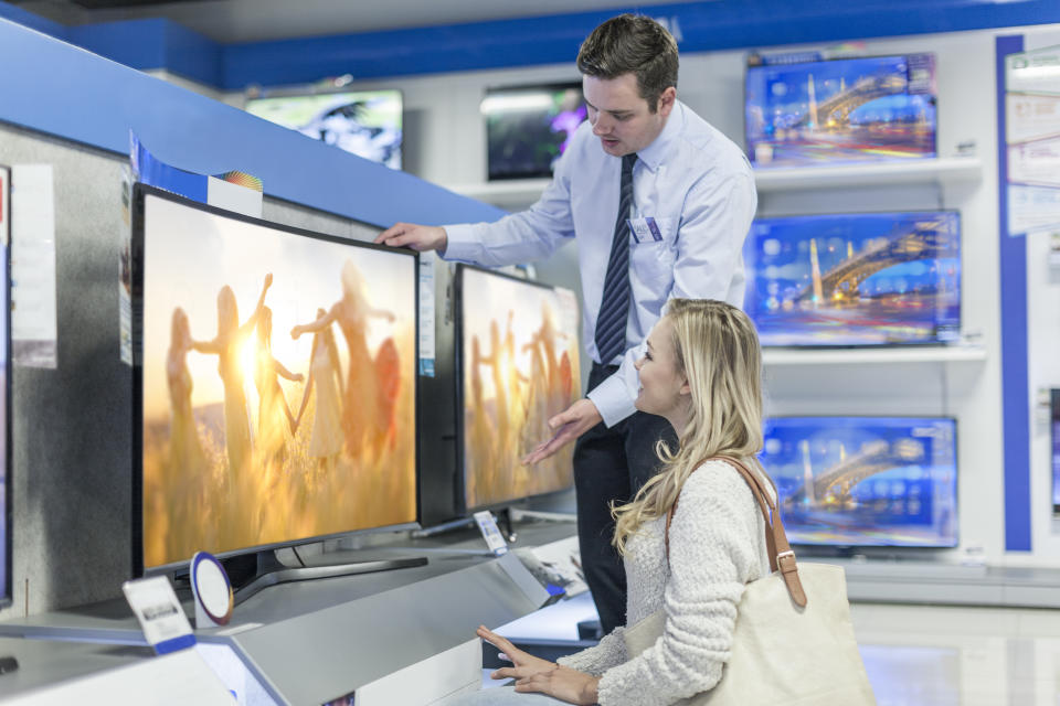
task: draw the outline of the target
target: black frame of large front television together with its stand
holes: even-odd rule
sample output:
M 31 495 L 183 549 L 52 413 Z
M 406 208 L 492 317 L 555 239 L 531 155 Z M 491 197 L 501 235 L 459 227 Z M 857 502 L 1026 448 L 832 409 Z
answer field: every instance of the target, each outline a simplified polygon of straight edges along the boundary
M 224 211 L 214 206 L 202 204 L 183 196 L 179 196 L 171 192 L 165 191 L 162 189 L 157 189 L 153 186 L 148 186 L 142 183 L 136 183 L 132 188 L 132 200 L 131 200 L 131 221 L 132 221 L 132 238 L 130 247 L 130 267 L 131 267 L 131 300 L 132 300 L 132 576 L 139 577 L 145 575 L 156 575 L 156 574 L 177 574 L 183 573 L 190 564 L 191 557 L 188 557 L 187 560 L 173 561 L 160 566 L 150 566 L 146 567 L 144 565 L 144 203 L 147 196 L 153 196 L 162 199 L 165 201 L 170 201 L 173 203 L 179 203 L 194 210 L 229 218 L 232 221 L 239 221 L 242 223 L 248 223 L 252 225 L 257 225 L 266 227 L 273 231 L 280 231 L 288 233 L 290 235 L 297 235 L 301 237 L 310 237 L 318 240 L 326 240 L 330 243 L 337 243 L 340 245 L 348 245 L 357 248 L 367 248 L 374 249 L 380 252 L 393 253 L 395 255 L 400 254 L 402 257 L 412 257 L 413 258 L 413 271 L 415 276 L 413 277 L 413 287 L 414 299 L 416 303 L 414 307 L 414 330 L 418 331 L 420 328 L 420 277 L 418 277 L 418 265 L 420 265 L 420 254 L 412 249 L 405 248 L 392 248 L 384 245 L 374 245 L 372 243 L 364 243 L 361 240 L 352 240 L 349 238 L 341 238 L 337 236 L 326 235 L 322 233 L 316 233 L 312 231 L 307 231 L 304 228 L 297 228 L 294 226 L 287 226 L 278 223 L 273 223 L 269 221 L 264 221 L 262 218 L 253 218 L 251 216 L 245 216 L 242 214 L 233 213 L 230 211 Z M 420 419 L 421 415 L 421 404 L 420 404 L 420 375 L 418 375 L 418 360 L 420 360 L 420 339 L 418 335 L 414 338 L 415 346 L 415 361 L 416 361 L 416 374 L 413 376 L 413 405 L 414 405 L 414 418 Z M 416 520 L 407 523 L 400 523 L 394 525 L 386 525 L 380 527 L 364 527 L 361 530 L 352 530 L 348 532 L 337 532 L 327 535 L 315 535 L 311 537 L 299 537 L 295 539 L 288 539 L 284 542 L 269 543 L 257 545 L 253 547 L 240 547 L 237 549 L 230 549 L 225 552 L 216 553 L 215 556 L 223 560 L 225 568 L 232 573 L 233 568 L 239 573 L 246 573 L 247 561 L 254 565 L 254 568 L 250 570 L 250 576 L 247 577 L 247 584 L 236 591 L 236 603 L 250 598 L 253 593 L 280 582 L 296 581 L 296 580 L 308 580 L 315 578 L 327 578 L 332 576 L 342 576 L 348 574 L 362 574 L 370 571 L 381 571 L 389 570 L 392 568 L 405 568 L 412 566 L 422 566 L 426 564 L 426 559 L 421 557 L 409 557 L 409 558 L 398 558 L 389 559 L 384 561 L 365 561 L 362 564 L 341 564 L 335 566 L 314 566 L 305 568 L 287 568 L 280 564 L 275 558 L 275 550 L 286 547 L 297 547 L 303 544 L 311 544 L 317 542 L 324 542 L 327 539 L 337 539 L 340 537 L 348 537 L 352 535 L 360 534 L 370 534 L 379 532 L 391 532 L 400 530 L 409 530 L 418 527 L 418 515 L 420 515 L 420 442 L 417 435 L 413 435 L 413 443 L 415 443 L 414 452 L 414 473 L 415 478 L 413 479 L 413 485 L 416 494 Z

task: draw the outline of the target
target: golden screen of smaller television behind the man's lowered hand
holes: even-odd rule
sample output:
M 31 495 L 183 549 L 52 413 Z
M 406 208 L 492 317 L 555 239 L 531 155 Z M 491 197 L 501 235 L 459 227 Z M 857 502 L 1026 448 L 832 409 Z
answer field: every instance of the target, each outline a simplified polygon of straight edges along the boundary
M 466 266 L 457 281 L 466 509 L 570 488 L 573 445 L 533 467 L 520 460 L 580 396 L 573 293 Z

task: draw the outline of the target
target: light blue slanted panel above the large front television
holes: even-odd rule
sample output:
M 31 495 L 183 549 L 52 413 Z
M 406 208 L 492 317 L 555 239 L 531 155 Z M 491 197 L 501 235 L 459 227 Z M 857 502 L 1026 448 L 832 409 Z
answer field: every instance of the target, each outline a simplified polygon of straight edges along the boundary
M 19 66 L 0 72 L 6 122 L 119 153 L 132 129 L 174 167 L 241 169 L 262 178 L 271 196 L 380 226 L 505 213 L 6 20 L 0 63 Z

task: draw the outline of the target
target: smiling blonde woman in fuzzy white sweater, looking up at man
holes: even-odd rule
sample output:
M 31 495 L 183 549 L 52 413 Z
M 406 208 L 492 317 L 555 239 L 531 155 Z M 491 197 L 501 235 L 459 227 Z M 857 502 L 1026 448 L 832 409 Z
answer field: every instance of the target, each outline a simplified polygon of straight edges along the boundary
M 626 566 L 628 624 L 664 608 L 662 637 L 629 659 L 625 629 L 618 628 L 555 664 L 481 627 L 479 637 L 513 663 L 494 678 L 515 677 L 515 692 L 487 689 L 460 704 L 672 704 L 721 678 L 744 585 L 770 571 L 759 505 L 740 473 L 717 458 L 757 468 L 757 335 L 734 307 L 675 299 L 636 367 L 637 409 L 666 417 L 680 448 L 674 453 L 659 443 L 662 470 L 633 502 L 614 510 L 614 544 Z

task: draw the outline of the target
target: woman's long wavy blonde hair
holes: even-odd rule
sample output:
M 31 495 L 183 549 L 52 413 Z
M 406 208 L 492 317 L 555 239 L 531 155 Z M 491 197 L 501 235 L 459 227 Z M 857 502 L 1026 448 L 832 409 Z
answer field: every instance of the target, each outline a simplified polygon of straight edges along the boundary
M 710 299 L 672 299 L 666 318 L 677 372 L 691 393 L 688 425 L 676 453 L 661 440 L 656 447 L 662 470 L 632 502 L 612 507 L 613 544 L 623 555 L 630 536 L 670 511 L 703 461 L 762 450 L 762 351 L 754 324 L 735 307 Z

